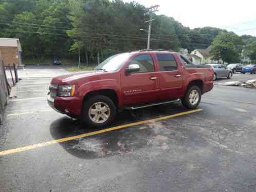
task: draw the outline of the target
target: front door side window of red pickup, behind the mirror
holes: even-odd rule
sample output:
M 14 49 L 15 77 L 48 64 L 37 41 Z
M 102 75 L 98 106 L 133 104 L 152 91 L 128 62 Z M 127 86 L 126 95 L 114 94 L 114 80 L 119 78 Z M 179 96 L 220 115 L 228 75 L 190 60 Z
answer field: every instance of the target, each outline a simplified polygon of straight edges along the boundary
M 131 61 L 130 65 L 137 64 L 140 67 L 139 72 L 133 72 L 133 73 L 143 73 L 143 72 L 153 72 L 155 71 L 154 68 L 154 62 L 152 60 L 152 57 L 149 54 L 143 54 L 138 55 L 134 57 L 134 59 Z

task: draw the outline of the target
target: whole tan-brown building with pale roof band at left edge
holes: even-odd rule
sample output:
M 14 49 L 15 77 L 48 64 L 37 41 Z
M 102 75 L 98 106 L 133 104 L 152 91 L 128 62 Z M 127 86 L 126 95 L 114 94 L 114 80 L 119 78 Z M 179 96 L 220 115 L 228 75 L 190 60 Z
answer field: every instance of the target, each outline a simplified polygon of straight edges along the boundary
M 0 38 L 0 52 L 5 66 L 13 63 L 17 66 L 23 66 L 22 48 L 19 39 Z

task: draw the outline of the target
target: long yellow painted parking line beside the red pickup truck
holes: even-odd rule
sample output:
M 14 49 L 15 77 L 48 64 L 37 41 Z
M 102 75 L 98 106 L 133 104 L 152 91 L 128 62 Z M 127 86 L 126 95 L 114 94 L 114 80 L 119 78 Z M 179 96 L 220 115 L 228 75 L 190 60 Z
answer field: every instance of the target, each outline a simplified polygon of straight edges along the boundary
M 180 112 L 180 113 L 177 113 L 177 114 L 172 114 L 171 116 L 165 116 L 165 117 L 155 118 L 155 119 L 151 119 L 151 120 L 145 120 L 145 121 L 139 121 L 139 122 L 129 123 L 129 124 L 125 124 L 125 125 L 119 125 L 119 126 L 116 126 L 116 127 L 111 127 L 111 128 L 107 128 L 107 129 L 102 129 L 102 130 L 98 130 L 98 131 L 84 133 L 84 134 L 81 134 L 81 135 L 78 135 L 78 136 L 47 141 L 47 142 L 43 142 L 43 143 L 38 143 L 38 144 L 34 144 L 34 145 L 29 145 L 29 146 L 19 147 L 19 148 L 14 148 L 14 149 L 9 149 L 9 150 L 3 150 L 3 151 L 0 151 L 0 156 L 6 156 L 6 155 L 9 155 L 9 154 L 12 154 L 12 153 L 22 152 L 22 151 L 26 151 L 26 150 L 30 150 L 30 149 L 34 149 L 34 148 L 45 147 L 45 146 L 56 144 L 56 143 L 62 143 L 62 142 L 65 142 L 65 141 L 70 141 L 70 140 L 85 138 L 85 137 L 89 137 L 89 136 L 99 135 L 100 133 L 109 132 L 109 131 L 118 130 L 118 129 L 123 129 L 123 128 L 127 128 L 127 127 L 132 127 L 132 126 L 141 125 L 141 124 L 145 124 L 145 123 L 150 123 L 150 122 L 155 122 L 155 121 L 162 121 L 162 120 L 166 120 L 166 119 L 170 119 L 170 118 L 184 116 L 185 114 L 195 113 L 195 112 L 199 112 L 199 111 L 202 111 L 202 110 L 203 109 L 195 109 L 195 110 Z

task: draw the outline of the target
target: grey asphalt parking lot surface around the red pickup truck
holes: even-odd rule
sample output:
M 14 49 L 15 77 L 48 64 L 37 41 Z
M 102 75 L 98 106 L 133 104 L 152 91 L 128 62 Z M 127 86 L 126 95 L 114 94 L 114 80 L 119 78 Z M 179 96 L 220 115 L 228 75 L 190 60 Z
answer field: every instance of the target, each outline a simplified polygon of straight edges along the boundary
M 96 130 L 50 109 L 44 76 L 6 109 L 1 191 L 256 191 L 256 89 L 214 86 L 199 110 L 123 111 Z

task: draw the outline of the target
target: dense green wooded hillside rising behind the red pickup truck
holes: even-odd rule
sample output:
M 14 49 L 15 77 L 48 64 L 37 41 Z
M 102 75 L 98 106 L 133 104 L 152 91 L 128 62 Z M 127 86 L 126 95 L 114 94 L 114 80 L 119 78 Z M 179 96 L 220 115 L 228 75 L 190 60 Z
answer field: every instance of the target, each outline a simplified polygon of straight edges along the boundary
M 25 59 L 60 57 L 97 62 L 147 47 L 148 9 L 121 0 L 0 0 L 0 37 L 19 38 Z M 191 30 L 174 18 L 154 15 L 152 49 L 205 49 L 226 30 Z

